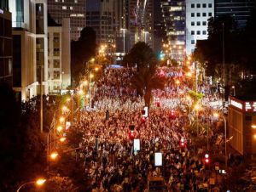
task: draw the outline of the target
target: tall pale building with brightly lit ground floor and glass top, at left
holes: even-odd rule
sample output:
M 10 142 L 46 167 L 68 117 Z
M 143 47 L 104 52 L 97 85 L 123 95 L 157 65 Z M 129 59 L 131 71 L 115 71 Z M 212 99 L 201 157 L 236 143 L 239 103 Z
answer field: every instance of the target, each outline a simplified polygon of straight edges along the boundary
M 46 0 L 9 2 L 13 26 L 14 90 L 20 100 L 48 93 Z M 42 85 L 42 87 L 41 87 Z

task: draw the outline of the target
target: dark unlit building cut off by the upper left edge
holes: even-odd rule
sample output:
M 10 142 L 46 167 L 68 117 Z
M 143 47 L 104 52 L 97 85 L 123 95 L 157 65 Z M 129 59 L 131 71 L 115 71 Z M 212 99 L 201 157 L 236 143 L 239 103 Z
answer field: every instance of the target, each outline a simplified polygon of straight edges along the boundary
M 8 0 L 0 0 L 0 82 L 13 86 L 12 23 Z

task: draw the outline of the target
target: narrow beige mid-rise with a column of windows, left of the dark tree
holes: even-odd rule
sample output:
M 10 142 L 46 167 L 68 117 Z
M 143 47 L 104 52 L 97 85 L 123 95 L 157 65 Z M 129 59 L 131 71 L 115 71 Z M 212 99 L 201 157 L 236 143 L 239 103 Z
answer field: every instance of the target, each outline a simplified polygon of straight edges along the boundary
M 71 85 L 69 18 L 48 26 L 48 45 L 49 93 L 58 94 Z

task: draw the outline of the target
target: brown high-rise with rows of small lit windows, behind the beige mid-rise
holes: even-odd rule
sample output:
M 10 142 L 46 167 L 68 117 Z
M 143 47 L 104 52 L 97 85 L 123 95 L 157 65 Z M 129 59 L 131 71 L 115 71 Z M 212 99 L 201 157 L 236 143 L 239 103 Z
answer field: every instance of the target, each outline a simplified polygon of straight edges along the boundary
M 62 18 L 70 18 L 70 37 L 77 41 L 80 31 L 85 27 L 86 0 L 48 0 L 48 13 L 56 23 Z

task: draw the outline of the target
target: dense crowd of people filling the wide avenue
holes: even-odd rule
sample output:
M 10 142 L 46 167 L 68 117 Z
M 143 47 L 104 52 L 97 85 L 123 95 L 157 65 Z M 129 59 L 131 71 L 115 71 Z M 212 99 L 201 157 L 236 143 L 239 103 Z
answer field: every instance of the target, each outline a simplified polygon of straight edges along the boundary
M 143 99 L 131 87 L 135 72 L 104 71 L 96 82 L 94 109 L 79 111 L 74 124 L 84 132 L 81 155 L 90 190 L 148 191 L 150 181 L 158 178 L 163 183 L 153 188 L 160 191 L 219 191 L 218 173 L 203 161 L 206 148 L 195 149 L 185 128 L 191 122 L 191 111 L 184 107 L 189 83 L 177 86 L 169 77 L 165 90 L 154 91 L 160 107 L 152 105 L 144 117 Z M 212 113 L 211 108 L 207 111 Z M 140 139 L 140 150 L 134 150 L 134 138 Z M 154 166 L 155 152 L 162 153 L 160 167 Z

